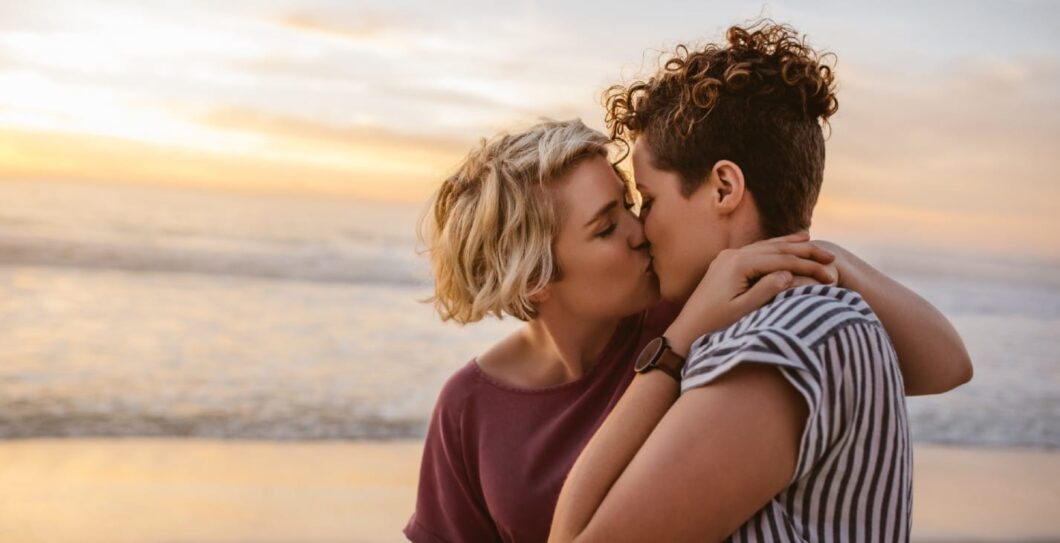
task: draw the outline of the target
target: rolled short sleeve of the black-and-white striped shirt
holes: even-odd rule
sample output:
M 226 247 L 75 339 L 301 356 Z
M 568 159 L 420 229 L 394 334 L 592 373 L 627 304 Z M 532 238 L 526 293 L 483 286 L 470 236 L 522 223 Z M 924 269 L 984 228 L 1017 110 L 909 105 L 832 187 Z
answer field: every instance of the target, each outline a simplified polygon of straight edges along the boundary
M 756 330 L 724 340 L 706 335 L 692 344 L 683 369 L 682 393 L 706 386 L 741 364 L 776 367 L 806 401 L 808 415 L 799 440 L 798 460 L 790 483 L 809 474 L 838 440 L 830 424 L 837 386 L 826 375 L 817 354 L 781 330 Z

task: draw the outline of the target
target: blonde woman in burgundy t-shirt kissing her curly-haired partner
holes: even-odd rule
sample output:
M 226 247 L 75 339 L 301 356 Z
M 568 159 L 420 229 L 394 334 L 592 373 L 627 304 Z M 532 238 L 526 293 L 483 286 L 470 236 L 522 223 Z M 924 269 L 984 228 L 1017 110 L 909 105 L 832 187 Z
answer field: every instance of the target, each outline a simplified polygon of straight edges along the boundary
M 917 368 L 907 391 L 962 382 L 967 354 L 937 311 L 853 267 L 866 267 L 855 259 L 833 262 L 801 234 L 726 252 L 678 317 L 681 308 L 659 299 L 631 188 L 608 145 L 577 120 L 499 135 L 473 150 L 430 204 L 423 238 L 441 318 L 525 325 L 443 386 L 404 530 L 411 541 L 546 541 L 564 478 L 630 385 L 644 345 L 675 317 L 686 331 L 724 328 L 797 277 L 832 283 L 837 270 L 869 303 L 902 299 L 902 315 L 880 312 L 885 323 L 949 331 L 930 348 L 899 352 L 903 371 Z M 846 282 L 861 277 L 873 280 Z

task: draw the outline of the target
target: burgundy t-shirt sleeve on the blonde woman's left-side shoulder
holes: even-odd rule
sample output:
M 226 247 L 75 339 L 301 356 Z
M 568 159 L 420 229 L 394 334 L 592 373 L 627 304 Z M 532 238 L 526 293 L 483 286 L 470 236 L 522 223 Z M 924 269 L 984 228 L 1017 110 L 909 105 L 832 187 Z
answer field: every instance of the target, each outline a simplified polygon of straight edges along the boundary
M 454 388 L 450 382 L 442 389 L 427 427 L 416 511 L 403 530 L 414 543 L 500 540 L 467 469 L 462 402 Z

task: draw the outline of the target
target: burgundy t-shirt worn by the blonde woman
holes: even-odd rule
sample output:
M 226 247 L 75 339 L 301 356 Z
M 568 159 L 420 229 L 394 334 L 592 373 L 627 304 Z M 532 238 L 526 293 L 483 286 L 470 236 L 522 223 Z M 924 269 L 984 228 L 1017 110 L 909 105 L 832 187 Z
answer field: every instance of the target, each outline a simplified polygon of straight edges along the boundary
M 659 303 L 622 320 L 581 379 L 524 389 L 473 360 L 442 387 L 427 428 L 416 512 L 417 543 L 548 540 L 567 472 L 633 381 L 637 354 L 679 308 Z

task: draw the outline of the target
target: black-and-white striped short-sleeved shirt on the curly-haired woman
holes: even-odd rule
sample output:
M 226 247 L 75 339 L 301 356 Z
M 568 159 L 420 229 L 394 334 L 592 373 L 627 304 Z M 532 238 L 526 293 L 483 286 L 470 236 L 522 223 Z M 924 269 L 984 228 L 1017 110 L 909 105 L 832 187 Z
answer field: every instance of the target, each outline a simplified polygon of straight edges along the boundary
M 908 541 L 905 396 L 883 326 L 853 291 L 791 288 L 689 350 L 682 393 L 739 364 L 770 364 L 809 407 L 788 487 L 728 541 Z

